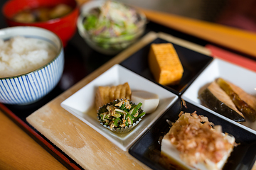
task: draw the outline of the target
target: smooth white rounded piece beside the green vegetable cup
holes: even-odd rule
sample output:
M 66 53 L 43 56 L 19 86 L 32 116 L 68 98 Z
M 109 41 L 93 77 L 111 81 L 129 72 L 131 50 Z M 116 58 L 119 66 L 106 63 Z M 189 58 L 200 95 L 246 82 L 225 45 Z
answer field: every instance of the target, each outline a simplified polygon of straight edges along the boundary
M 159 105 L 159 96 L 148 91 L 132 91 L 132 101 L 142 103 L 142 110 L 146 113 L 152 113 Z

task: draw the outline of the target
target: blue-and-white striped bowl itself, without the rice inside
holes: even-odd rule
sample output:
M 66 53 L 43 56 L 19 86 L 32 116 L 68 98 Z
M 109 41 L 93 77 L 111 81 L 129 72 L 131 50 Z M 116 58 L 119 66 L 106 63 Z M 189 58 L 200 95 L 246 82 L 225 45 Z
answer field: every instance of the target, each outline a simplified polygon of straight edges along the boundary
M 44 40 L 57 54 L 53 60 L 32 72 L 0 77 L 0 103 L 27 105 L 46 96 L 60 81 L 64 68 L 63 44 L 58 35 L 44 28 L 17 26 L 0 29 L 0 38 L 3 40 L 18 35 Z

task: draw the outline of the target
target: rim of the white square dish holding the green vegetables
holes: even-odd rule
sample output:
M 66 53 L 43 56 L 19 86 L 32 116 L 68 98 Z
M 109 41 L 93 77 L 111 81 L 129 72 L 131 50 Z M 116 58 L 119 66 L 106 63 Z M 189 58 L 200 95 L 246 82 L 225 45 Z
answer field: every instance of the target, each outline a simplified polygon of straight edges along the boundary
M 111 69 L 111 70 L 110 70 Z M 102 75 L 104 75 L 107 72 L 112 72 L 112 70 L 116 70 L 116 71 L 123 71 L 123 72 L 129 72 L 129 76 L 135 76 L 135 77 L 139 77 L 139 79 L 142 79 L 143 81 L 149 81 L 147 79 L 145 79 L 144 77 L 139 76 L 138 74 L 135 74 L 134 72 L 130 71 L 129 69 L 126 69 L 125 67 L 122 67 L 119 64 L 115 64 L 113 67 L 111 67 L 110 69 L 108 69 L 106 72 L 104 72 L 103 74 L 101 74 L 99 77 L 101 77 Z M 128 77 L 129 77 L 128 76 Z M 89 84 L 85 85 L 85 86 L 92 86 L 92 84 L 94 83 L 94 81 L 97 79 L 98 77 L 96 77 L 94 80 L 92 80 Z M 149 81 L 151 84 L 154 84 L 153 82 Z M 134 82 L 132 82 L 132 84 L 134 84 Z M 129 140 L 131 140 L 129 143 L 122 143 L 123 140 L 120 140 L 118 137 L 114 137 L 111 133 L 106 133 L 105 130 L 107 130 L 106 128 L 104 128 L 103 126 L 100 128 L 93 125 L 93 122 L 90 123 L 90 121 L 86 120 L 85 118 L 82 118 L 82 111 L 78 111 L 77 109 L 73 108 L 72 106 L 70 106 L 70 103 L 68 103 L 68 101 L 70 101 L 70 99 L 73 98 L 73 96 L 77 95 L 80 91 L 82 91 L 83 88 L 85 88 L 85 86 L 83 86 L 80 90 L 78 90 L 77 92 L 75 92 L 75 94 L 73 94 L 72 96 L 70 96 L 69 98 L 66 98 L 65 101 L 63 101 L 62 103 L 60 103 L 60 106 L 62 106 L 66 111 L 72 113 L 73 115 L 75 115 L 75 117 L 79 118 L 80 120 L 82 120 L 84 123 L 86 123 L 87 125 L 89 125 L 91 128 L 95 129 L 97 132 L 99 132 L 102 136 L 106 137 L 108 140 L 110 140 L 111 142 L 114 143 L 114 145 L 117 145 L 117 147 L 121 148 L 124 151 L 127 151 L 127 149 L 129 149 L 129 147 L 131 147 L 134 142 L 136 142 L 138 140 L 139 137 L 141 137 L 144 132 L 146 130 L 149 129 L 149 127 L 151 127 L 151 125 L 171 106 L 173 105 L 177 99 L 178 96 L 176 94 L 171 93 L 171 91 L 167 91 L 166 89 L 161 88 L 160 86 L 154 84 L 154 86 L 158 86 L 158 88 L 161 88 L 161 91 L 167 91 L 169 92 L 169 94 L 171 95 L 166 95 L 168 96 L 168 98 L 166 98 L 166 96 L 164 98 L 160 98 L 161 99 L 161 109 L 159 108 L 159 112 L 154 115 L 148 115 L 148 117 L 144 118 L 144 121 L 142 120 L 141 123 L 139 123 L 135 128 L 143 128 L 142 131 L 140 132 L 134 132 L 133 135 L 134 136 L 130 136 Z M 132 88 L 131 88 L 132 89 Z M 160 103 L 159 103 L 160 105 Z M 90 107 L 87 107 L 90 108 Z M 157 111 L 157 110 L 156 110 Z M 81 113 L 81 114 L 80 114 Z M 79 115 L 80 114 L 80 115 Z M 150 113 L 152 114 L 152 113 Z M 151 119 L 149 118 L 151 117 Z M 152 118 L 153 117 L 153 118 Z M 146 119 L 148 118 L 148 119 Z M 146 124 L 145 124 L 146 123 Z M 99 123 L 100 124 L 100 123 Z M 108 132 L 109 130 L 107 130 Z M 137 130 L 138 131 L 138 130 Z M 125 137 L 127 138 L 127 137 Z

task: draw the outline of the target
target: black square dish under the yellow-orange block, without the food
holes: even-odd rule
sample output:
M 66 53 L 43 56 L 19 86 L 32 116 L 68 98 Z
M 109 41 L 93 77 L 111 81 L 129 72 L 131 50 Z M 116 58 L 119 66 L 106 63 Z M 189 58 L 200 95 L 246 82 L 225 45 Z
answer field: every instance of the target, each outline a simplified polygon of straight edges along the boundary
M 166 42 L 168 41 L 161 38 L 156 38 L 154 41 L 142 47 L 142 49 L 138 50 L 129 58 L 127 58 L 127 60 L 121 62 L 120 65 L 156 83 L 148 65 L 149 49 L 152 43 L 159 44 Z M 181 81 L 178 85 L 163 87 L 169 89 L 174 94 L 181 95 L 183 94 L 183 91 L 185 91 L 188 86 L 193 82 L 193 80 L 198 77 L 203 69 L 208 66 L 208 64 L 213 60 L 213 57 L 203 55 L 200 52 L 196 52 L 186 47 L 176 45 L 175 43 L 172 44 L 174 45 L 178 57 L 181 60 L 181 64 L 184 70 L 183 77 L 181 78 Z

